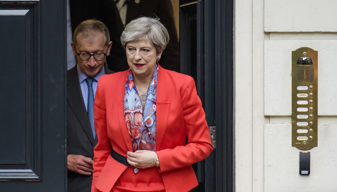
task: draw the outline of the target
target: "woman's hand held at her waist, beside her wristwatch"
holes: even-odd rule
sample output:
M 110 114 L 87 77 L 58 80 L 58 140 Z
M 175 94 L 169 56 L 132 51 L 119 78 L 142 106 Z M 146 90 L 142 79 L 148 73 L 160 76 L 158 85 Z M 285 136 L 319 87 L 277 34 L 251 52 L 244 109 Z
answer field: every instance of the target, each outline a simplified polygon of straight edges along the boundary
M 137 150 L 133 152 L 126 153 L 127 162 L 137 168 L 149 168 L 156 166 L 156 152 L 149 150 Z

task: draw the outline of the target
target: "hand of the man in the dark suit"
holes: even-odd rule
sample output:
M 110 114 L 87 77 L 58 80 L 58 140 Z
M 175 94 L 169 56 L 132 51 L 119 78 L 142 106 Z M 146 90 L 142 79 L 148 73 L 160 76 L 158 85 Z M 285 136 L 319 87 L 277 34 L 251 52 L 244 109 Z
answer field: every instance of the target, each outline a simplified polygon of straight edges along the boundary
M 76 173 L 91 175 L 92 171 L 92 163 L 94 161 L 89 157 L 84 157 L 82 155 L 68 155 L 67 158 L 67 167 L 69 171 L 73 171 Z

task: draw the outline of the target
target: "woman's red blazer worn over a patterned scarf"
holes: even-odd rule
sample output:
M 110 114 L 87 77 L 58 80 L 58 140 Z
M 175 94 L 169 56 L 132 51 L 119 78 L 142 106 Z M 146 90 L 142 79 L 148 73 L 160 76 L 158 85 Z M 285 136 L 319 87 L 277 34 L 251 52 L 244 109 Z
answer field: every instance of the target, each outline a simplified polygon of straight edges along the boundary
M 92 191 L 110 191 L 127 168 L 110 156 L 111 147 L 123 156 L 132 151 L 123 109 L 127 75 L 128 70 L 102 75 L 98 81 Z M 158 171 L 165 190 L 186 192 L 198 185 L 191 164 L 205 159 L 213 149 L 192 77 L 159 66 L 156 122 Z

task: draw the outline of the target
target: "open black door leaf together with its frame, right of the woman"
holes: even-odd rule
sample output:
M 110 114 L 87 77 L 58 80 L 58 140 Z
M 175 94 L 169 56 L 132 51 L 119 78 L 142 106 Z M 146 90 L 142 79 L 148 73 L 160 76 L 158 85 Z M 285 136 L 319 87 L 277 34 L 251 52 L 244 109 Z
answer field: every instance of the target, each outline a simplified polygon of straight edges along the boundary
M 180 0 L 181 72 L 194 78 L 214 149 L 191 191 L 233 191 L 233 0 Z

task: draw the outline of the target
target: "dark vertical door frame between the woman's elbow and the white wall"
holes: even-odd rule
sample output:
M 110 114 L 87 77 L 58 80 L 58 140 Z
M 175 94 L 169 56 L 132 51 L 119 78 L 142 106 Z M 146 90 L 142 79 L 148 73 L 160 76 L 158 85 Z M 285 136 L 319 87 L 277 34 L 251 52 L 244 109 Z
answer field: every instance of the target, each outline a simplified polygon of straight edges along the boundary
M 205 163 L 205 191 L 231 192 L 234 186 L 233 10 L 233 0 L 205 1 L 205 111 L 215 117 L 208 123 L 216 128 L 216 148 Z

